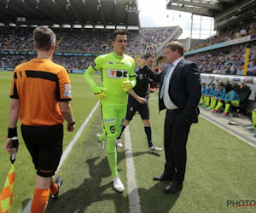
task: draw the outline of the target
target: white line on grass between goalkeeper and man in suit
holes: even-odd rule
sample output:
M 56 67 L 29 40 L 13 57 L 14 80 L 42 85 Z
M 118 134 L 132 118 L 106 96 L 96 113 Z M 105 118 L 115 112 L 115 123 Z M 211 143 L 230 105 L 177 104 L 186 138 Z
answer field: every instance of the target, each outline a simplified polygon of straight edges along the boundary
M 142 208 L 140 204 L 140 196 L 137 190 L 137 181 L 135 176 L 135 168 L 133 164 L 133 154 L 131 149 L 131 136 L 129 125 L 125 128 L 125 157 L 129 210 L 131 213 L 141 213 Z

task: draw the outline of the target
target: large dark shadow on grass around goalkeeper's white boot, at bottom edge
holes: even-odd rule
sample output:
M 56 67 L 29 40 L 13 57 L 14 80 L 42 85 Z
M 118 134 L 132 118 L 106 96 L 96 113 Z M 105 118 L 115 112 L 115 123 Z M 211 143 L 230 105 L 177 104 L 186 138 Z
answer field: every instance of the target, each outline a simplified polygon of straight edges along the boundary
M 46 212 L 84 212 L 91 204 L 108 200 L 113 201 L 116 212 L 119 210 L 127 210 L 128 212 L 127 198 L 123 193 L 114 192 L 113 182 L 110 181 L 108 184 L 102 185 L 102 178 L 111 176 L 111 173 L 108 158 L 105 157 L 96 164 L 98 158 L 90 158 L 85 161 L 89 164 L 90 178 L 85 178 L 79 187 L 61 194 L 56 202 L 49 200 Z M 112 191 L 106 193 L 105 191 L 109 188 Z M 96 204 L 96 207 L 98 206 Z M 105 206 L 98 208 L 95 209 L 95 212 L 104 211 Z

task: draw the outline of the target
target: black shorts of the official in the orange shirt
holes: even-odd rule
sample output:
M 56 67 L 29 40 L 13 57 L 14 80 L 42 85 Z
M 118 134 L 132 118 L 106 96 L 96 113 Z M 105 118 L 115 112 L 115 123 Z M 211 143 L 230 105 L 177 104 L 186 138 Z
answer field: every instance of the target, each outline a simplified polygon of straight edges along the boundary
M 54 176 L 62 155 L 63 124 L 55 126 L 21 124 L 21 133 L 35 169 L 38 170 L 38 176 Z

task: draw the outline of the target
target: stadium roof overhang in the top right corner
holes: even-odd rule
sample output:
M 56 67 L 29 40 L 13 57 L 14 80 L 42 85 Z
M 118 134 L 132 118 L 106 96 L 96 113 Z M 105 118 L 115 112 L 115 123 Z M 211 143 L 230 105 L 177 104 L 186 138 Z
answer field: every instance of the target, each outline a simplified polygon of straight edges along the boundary
M 166 9 L 211 16 L 214 20 L 224 20 L 255 4 L 255 0 L 170 0 Z

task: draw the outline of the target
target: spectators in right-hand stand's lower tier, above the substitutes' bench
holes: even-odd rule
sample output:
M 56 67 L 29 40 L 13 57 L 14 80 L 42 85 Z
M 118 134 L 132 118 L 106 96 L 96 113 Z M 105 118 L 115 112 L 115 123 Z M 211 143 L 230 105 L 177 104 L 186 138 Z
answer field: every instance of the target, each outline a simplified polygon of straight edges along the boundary
M 224 52 L 215 50 L 213 53 L 200 53 L 188 56 L 188 60 L 194 61 L 200 72 L 227 74 L 227 75 L 243 75 L 245 65 L 246 49 L 236 49 L 235 51 Z M 247 75 L 256 76 L 256 46 L 250 49 L 249 60 L 247 64 Z

